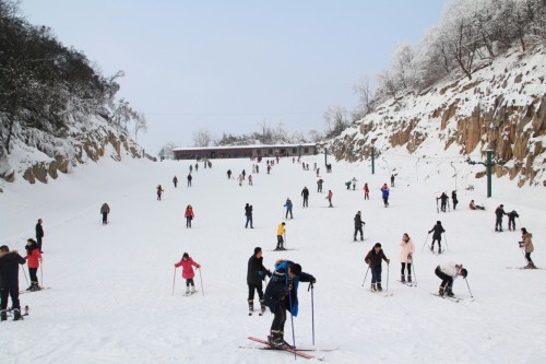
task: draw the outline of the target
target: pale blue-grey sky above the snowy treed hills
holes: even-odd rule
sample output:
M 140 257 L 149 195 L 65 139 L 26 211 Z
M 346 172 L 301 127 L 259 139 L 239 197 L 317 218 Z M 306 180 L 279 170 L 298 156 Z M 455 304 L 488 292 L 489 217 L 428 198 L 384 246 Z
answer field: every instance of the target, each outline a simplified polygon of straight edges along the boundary
M 192 145 L 200 128 L 219 138 L 282 121 L 324 130 L 329 106 L 353 109 L 353 84 L 388 68 L 394 47 L 417 44 L 446 0 L 23 0 L 146 115 L 139 142 L 156 154 Z

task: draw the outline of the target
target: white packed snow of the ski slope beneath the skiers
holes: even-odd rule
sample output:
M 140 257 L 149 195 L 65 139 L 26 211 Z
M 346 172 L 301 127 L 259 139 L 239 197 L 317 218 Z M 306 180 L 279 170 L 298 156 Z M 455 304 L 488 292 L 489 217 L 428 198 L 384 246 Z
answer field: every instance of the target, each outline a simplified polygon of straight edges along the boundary
M 270 175 L 262 161 L 253 186 L 226 176 L 228 168 L 235 177 L 244 168 L 250 174 L 250 160 L 213 160 L 206 169 L 200 163 L 191 188 L 186 176 L 194 161 L 105 158 L 47 185 L 4 184 L 0 243 L 24 255 L 25 240 L 34 237 L 41 218 L 46 236 L 38 277 L 51 289 L 21 295 L 22 306 L 31 307 L 24 321 L 0 322 L 0 363 L 294 362 L 286 352 L 256 350 L 263 345 L 247 339 L 265 339 L 273 318 L 269 312 L 247 315 L 247 261 L 257 246 L 268 268 L 290 259 L 317 278 L 313 301 L 306 283 L 299 287 L 295 337 L 297 345 L 312 348 L 313 307 L 314 347 L 339 349 L 311 354 L 329 363 L 546 362 L 546 270 L 507 269 L 525 265 L 518 246 L 521 224 L 533 233 L 535 265 L 546 268 L 544 187 L 518 189 L 507 178 L 494 179 L 494 197 L 487 199 L 485 178 L 459 174 L 466 177 L 458 177 L 456 211 L 437 213 L 436 196 L 455 188 L 449 164 L 422 164 L 416 172 L 404 160 L 391 161 L 371 175 L 369 163 L 333 163 L 327 174 L 323 156 L 302 161 L 311 171 L 290 157 L 281 158 Z M 313 163 L 321 168 L 323 193 L 317 192 Z M 393 171 L 395 187 L 384 208 L 379 189 Z M 358 179 L 355 191 L 344 185 L 353 177 Z M 370 200 L 363 198 L 364 183 L 370 186 Z M 159 184 L 162 201 L 156 200 Z M 466 190 L 471 184 L 474 190 Z M 311 191 L 308 209 L 301 208 L 304 186 Z M 334 208 L 328 208 L 329 189 Z M 294 220 L 286 221 L 286 245 L 294 250 L 270 251 L 286 198 L 295 203 Z M 471 211 L 471 199 L 487 210 Z M 104 202 L 111 209 L 106 226 L 99 215 Z M 247 202 L 253 206 L 253 230 L 245 228 Z M 494 232 L 500 203 L 507 212 L 519 212 L 517 232 Z M 187 204 L 195 213 L 192 228 L 186 228 Z M 358 210 L 366 239 L 353 243 Z M 422 251 L 438 220 L 447 230 L 447 251 L 440 256 L 427 247 Z M 506 218 L 503 224 L 507 228 Z M 416 287 L 396 282 L 403 233 L 416 246 Z M 370 274 L 363 286 L 364 256 L 377 242 L 391 259 L 382 274 L 390 297 L 369 291 Z M 174 267 L 185 251 L 202 265 L 195 275 L 199 292 L 189 297 Z M 453 285 L 463 298 L 459 303 L 430 294 L 440 283 L 435 268 L 450 260 L 468 270 L 467 281 L 458 279 Z M 20 286 L 27 286 L 23 269 Z M 289 318 L 286 339 L 292 341 Z

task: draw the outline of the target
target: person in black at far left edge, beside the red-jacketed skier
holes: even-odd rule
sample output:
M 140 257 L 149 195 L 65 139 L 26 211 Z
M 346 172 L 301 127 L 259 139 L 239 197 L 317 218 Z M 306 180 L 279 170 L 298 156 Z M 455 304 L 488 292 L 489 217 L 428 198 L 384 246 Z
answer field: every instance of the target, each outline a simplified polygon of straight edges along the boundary
M 16 250 L 10 251 L 5 245 L 0 247 L 0 319 L 8 319 L 8 297 L 11 296 L 13 320 L 21 320 L 21 306 L 19 303 L 19 265 L 26 260 Z

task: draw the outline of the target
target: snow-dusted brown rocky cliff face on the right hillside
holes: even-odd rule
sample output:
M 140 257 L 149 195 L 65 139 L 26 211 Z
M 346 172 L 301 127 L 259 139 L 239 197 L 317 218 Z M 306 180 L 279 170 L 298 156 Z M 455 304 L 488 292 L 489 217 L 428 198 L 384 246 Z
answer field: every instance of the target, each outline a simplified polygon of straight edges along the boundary
M 498 177 L 508 175 L 519 186 L 542 184 L 545 79 L 545 50 L 509 54 L 476 71 L 471 81 L 461 78 L 387 101 L 334 139 L 332 152 L 337 160 L 361 161 L 370 157 L 372 146 L 384 155 L 402 148 L 426 160 L 442 152 L 484 157 L 490 149 L 500 162 Z

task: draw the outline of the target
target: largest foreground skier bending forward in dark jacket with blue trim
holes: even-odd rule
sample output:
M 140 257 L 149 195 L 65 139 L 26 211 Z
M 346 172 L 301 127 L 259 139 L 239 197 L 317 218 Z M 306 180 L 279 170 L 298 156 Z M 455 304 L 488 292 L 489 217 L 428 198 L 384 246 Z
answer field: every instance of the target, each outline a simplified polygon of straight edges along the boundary
M 284 324 L 286 312 L 298 316 L 298 285 L 299 282 L 317 283 L 314 277 L 301 271 L 301 266 L 289 260 L 278 260 L 275 270 L 265 287 L 265 305 L 275 315 L 271 324 L 268 341 L 276 348 L 292 348 L 284 341 Z

